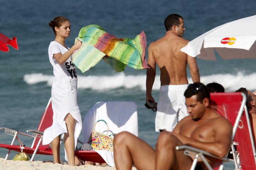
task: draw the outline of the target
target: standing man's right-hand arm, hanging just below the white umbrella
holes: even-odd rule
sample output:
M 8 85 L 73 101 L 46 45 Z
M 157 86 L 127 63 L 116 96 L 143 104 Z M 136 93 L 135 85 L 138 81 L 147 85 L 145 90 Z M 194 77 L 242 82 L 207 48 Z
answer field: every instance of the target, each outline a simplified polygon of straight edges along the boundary
M 196 64 L 196 58 L 187 55 L 187 62 L 193 83 L 200 82 L 199 69 Z

